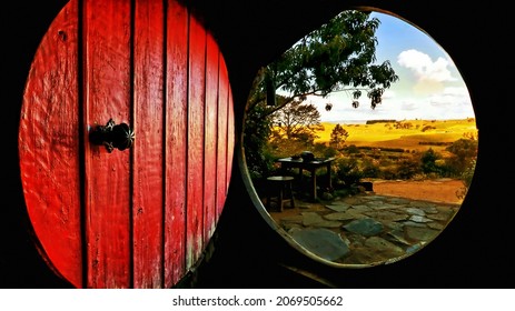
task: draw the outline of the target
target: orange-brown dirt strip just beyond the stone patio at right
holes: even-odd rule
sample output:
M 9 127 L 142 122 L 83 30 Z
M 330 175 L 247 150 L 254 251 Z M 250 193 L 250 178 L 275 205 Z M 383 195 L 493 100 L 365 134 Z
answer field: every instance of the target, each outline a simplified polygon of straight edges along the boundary
M 403 197 L 434 202 L 462 203 L 465 187 L 460 180 L 438 179 L 423 181 L 374 180 L 377 194 Z

